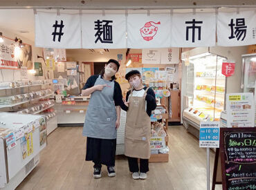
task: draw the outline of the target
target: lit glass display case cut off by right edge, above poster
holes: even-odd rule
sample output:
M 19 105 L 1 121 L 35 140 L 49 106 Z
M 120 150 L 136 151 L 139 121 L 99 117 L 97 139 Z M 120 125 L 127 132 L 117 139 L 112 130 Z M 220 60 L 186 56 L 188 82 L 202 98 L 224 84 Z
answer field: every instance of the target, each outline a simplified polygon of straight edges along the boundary
M 256 53 L 242 55 L 242 59 L 243 77 L 241 88 L 243 88 L 244 93 L 254 93 L 256 80 Z

